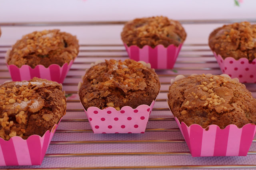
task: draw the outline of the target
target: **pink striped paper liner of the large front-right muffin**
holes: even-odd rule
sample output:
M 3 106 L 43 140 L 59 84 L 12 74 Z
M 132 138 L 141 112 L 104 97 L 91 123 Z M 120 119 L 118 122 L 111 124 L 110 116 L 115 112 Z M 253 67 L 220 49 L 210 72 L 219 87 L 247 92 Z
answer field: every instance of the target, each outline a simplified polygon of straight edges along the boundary
M 229 77 L 225 74 L 222 76 Z M 171 80 L 171 85 L 174 81 L 182 78 L 184 78 L 183 75 L 178 75 L 175 80 Z M 236 80 L 238 81 L 238 79 Z M 174 119 L 193 157 L 246 156 L 256 132 L 256 125 L 250 123 L 242 128 L 228 125 L 226 128 L 220 129 L 217 125 L 202 128 L 200 125 L 193 124 L 188 127 L 184 122 L 180 123 L 177 117 Z

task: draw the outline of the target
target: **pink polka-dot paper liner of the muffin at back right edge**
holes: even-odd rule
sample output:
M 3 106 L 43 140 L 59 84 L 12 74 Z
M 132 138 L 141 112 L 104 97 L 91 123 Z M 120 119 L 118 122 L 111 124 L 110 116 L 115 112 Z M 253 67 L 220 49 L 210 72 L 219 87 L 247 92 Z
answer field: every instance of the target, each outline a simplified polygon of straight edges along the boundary
M 220 66 L 222 73 L 229 75 L 231 78 L 238 78 L 242 83 L 256 83 L 256 59 L 249 62 L 247 58 L 238 60 L 233 57 L 222 58 L 221 55 L 214 56 Z

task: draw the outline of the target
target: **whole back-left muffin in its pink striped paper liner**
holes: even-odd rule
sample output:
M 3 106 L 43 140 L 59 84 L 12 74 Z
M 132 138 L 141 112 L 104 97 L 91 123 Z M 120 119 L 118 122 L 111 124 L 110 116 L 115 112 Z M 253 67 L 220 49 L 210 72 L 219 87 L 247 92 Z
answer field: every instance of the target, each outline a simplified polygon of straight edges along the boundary
M 13 81 L 38 77 L 63 83 L 78 51 L 76 36 L 44 30 L 18 40 L 7 51 L 6 63 Z

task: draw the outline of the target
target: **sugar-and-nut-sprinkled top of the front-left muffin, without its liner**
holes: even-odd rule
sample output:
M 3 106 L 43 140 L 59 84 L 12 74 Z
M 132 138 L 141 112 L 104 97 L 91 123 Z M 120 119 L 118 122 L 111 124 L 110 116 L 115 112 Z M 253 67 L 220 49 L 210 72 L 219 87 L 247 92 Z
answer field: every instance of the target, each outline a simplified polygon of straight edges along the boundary
M 56 82 L 34 77 L 0 85 L 0 138 L 43 136 L 66 113 L 66 97 Z

